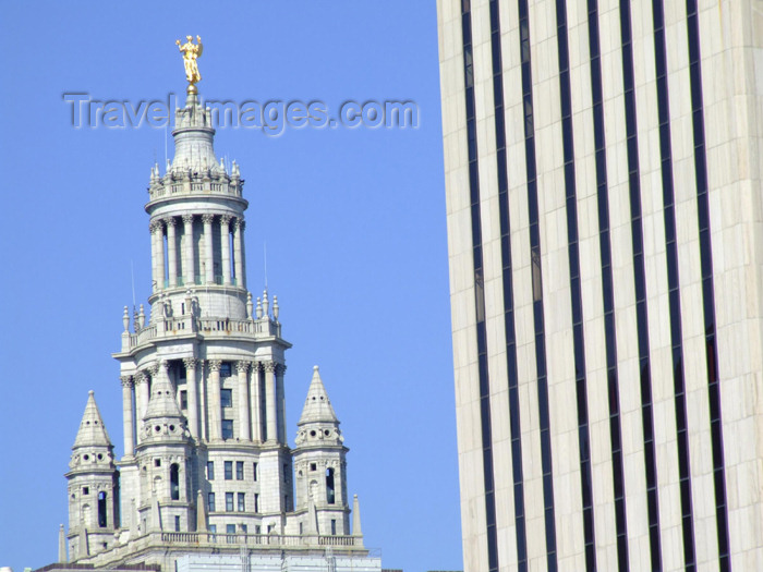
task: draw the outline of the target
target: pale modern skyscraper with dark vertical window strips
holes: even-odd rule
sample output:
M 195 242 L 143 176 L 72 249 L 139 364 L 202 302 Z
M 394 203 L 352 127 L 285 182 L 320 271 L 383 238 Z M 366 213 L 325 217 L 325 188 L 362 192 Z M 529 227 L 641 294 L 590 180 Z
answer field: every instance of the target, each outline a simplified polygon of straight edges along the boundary
M 763 570 L 763 12 L 438 0 L 465 570 Z

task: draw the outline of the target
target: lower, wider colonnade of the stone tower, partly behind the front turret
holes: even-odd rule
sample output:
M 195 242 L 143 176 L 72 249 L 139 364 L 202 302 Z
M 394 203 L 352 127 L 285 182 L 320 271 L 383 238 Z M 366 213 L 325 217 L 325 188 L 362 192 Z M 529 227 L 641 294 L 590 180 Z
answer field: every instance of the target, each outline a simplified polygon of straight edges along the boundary
M 194 439 L 222 439 L 223 407 L 221 360 L 186 357 L 185 388 L 187 427 Z M 122 376 L 122 413 L 124 424 L 124 454 L 132 455 L 141 442 L 140 424 L 148 406 L 149 384 L 158 373 L 157 366 L 140 370 L 134 376 Z M 206 376 L 204 375 L 206 373 Z M 257 443 L 286 443 L 286 399 L 283 374 L 286 365 L 272 361 L 232 362 L 233 411 L 228 417 L 238 418 L 233 438 Z M 137 431 L 135 429 L 138 429 Z M 135 437 L 137 436 L 137 442 Z

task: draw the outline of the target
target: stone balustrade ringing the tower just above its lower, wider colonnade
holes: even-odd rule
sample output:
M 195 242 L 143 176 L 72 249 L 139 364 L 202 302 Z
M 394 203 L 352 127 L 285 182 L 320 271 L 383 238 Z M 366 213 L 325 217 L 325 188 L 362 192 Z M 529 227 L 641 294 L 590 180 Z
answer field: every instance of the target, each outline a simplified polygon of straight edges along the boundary
M 202 334 L 205 337 L 246 336 L 268 338 L 281 336 L 281 325 L 269 318 L 233 319 L 233 318 L 196 318 L 179 316 L 160 318 L 135 333 L 122 334 L 122 351 L 128 352 L 154 340 Z

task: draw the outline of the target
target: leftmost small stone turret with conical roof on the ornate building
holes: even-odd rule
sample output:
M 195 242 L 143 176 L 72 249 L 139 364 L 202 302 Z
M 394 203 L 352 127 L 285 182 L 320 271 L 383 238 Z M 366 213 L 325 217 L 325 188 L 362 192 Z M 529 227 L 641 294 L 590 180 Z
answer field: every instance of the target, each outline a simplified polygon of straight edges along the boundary
M 93 391 L 87 397 L 69 467 L 69 552 L 87 557 L 113 544 L 119 520 L 113 446 Z

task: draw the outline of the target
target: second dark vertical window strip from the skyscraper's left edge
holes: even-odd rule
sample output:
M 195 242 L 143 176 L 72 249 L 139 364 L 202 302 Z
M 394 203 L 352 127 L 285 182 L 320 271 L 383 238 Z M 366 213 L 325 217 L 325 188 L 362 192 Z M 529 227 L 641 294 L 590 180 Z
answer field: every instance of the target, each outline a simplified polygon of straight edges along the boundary
M 498 0 L 491 0 L 491 48 L 493 60 L 493 100 L 495 108 L 496 160 L 498 169 L 498 205 L 500 220 L 500 256 L 504 276 L 504 329 L 506 334 L 506 370 L 509 386 L 511 465 L 517 534 L 517 570 L 528 570 L 528 540 L 524 522 L 524 477 L 522 471 L 522 431 L 519 406 L 519 376 L 513 316 L 513 266 L 511 264 L 511 229 L 509 226 L 509 177 L 506 157 L 506 117 L 504 113 L 504 72 L 500 49 Z

